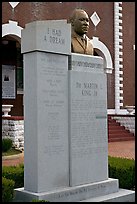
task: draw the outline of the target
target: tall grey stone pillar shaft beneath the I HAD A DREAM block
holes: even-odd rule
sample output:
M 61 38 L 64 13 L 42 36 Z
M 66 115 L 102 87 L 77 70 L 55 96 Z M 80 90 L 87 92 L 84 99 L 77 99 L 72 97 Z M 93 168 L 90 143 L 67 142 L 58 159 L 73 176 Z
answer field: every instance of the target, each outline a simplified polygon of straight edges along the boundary
M 69 185 L 68 57 L 25 55 L 25 189 Z

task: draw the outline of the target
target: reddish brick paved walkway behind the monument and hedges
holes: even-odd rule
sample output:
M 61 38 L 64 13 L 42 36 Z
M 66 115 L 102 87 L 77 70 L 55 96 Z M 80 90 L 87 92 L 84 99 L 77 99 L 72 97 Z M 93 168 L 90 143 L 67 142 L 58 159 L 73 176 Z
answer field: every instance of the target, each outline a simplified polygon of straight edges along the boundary
M 135 159 L 135 141 L 108 143 L 108 155 Z M 24 153 L 2 158 L 2 166 L 14 166 L 24 162 Z

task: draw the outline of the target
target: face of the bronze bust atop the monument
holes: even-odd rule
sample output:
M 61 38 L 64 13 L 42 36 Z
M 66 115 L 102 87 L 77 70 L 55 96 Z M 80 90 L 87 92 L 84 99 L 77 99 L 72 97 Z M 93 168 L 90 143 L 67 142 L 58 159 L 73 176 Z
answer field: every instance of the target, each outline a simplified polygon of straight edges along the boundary
M 83 36 L 89 29 L 89 17 L 85 11 L 77 11 L 72 22 L 73 30 L 80 36 Z

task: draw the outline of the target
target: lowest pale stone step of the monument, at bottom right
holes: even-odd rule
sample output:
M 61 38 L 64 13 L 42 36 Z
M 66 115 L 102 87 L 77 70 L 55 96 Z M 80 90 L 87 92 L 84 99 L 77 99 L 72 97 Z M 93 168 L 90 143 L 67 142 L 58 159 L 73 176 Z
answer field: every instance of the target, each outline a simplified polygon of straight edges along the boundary
M 135 202 L 135 191 L 119 189 L 118 192 L 79 202 Z

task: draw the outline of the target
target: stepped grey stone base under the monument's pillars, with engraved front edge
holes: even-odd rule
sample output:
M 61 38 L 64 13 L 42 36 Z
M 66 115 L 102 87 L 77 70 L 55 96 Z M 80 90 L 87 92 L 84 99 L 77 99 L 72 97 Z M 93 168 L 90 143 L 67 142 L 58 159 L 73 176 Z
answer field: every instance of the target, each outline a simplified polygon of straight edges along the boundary
M 33 199 L 49 202 L 135 202 L 135 192 L 119 189 L 118 179 L 112 178 L 42 193 L 15 189 L 14 202 L 32 202 Z

